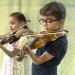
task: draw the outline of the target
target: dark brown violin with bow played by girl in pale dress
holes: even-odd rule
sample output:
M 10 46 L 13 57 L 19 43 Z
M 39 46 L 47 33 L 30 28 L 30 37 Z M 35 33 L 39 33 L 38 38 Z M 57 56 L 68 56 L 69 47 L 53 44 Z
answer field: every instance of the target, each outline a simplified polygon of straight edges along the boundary
M 13 43 L 17 41 L 23 33 L 32 33 L 31 30 L 27 28 L 27 23 L 30 22 L 30 20 L 27 20 L 24 25 L 17 28 L 15 31 L 9 32 L 3 36 L 0 36 L 0 44 L 4 45 L 6 43 Z

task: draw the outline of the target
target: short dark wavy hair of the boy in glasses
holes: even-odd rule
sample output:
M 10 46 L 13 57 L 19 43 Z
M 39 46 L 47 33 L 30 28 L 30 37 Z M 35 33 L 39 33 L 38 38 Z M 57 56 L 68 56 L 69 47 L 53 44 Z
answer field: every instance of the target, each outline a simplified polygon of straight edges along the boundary
M 46 4 L 43 8 L 40 9 L 40 15 L 43 16 L 55 16 L 57 20 L 65 19 L 66 9 L 65 6 L 57 1 L 52 1 Z

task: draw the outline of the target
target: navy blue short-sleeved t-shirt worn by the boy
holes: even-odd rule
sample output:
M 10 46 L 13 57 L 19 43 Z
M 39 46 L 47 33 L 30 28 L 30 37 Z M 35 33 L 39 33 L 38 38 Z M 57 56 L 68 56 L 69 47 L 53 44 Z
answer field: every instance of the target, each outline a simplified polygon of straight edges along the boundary
M 68 41 L 66 36 L 62 36 L 39 48 L 36 52 L 37 56 L 41 56 L 45 51 L 47 51 L 52 54 L 54 58 L 40 65 L 32 63 L 32 75 L 57 75 L 57 65 L 59 65 L 66 54 L 67 45 Z

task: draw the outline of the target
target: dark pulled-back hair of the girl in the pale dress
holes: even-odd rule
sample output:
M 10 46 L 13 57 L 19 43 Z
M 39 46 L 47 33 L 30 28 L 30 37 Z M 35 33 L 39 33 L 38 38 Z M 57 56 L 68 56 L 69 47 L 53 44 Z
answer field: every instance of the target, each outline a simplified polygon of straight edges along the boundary
M 20 12 L 11 13 L 9 16 L 15 17 L 18 21 L 26 22 L 26 17 Z

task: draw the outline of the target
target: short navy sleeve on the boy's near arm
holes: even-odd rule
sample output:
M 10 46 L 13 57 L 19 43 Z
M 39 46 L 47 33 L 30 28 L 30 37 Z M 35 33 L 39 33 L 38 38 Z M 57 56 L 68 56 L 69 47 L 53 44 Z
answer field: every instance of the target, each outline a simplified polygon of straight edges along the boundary
M 59 57 L 61 52 L 63 50 L 63 44 L 60 41 L 53 42 L 51 45 L 48 46 L 46 51 L 50 54 L 52 54 L 55 57 Z

